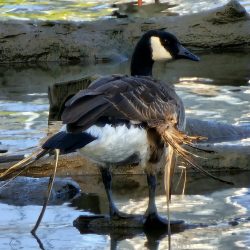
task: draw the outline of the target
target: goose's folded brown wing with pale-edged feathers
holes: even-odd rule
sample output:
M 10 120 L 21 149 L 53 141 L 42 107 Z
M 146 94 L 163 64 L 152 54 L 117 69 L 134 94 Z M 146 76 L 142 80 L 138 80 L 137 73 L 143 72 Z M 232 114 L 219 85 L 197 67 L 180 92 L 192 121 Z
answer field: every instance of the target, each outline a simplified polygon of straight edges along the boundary
M 154 127 L 174 118 L 183 105 L 175 91 L 150 77 L 109 76 L 78 92 L 65 106 L 62 120 L 72 132 L 85 130 L 99 118 L 117 117 Z

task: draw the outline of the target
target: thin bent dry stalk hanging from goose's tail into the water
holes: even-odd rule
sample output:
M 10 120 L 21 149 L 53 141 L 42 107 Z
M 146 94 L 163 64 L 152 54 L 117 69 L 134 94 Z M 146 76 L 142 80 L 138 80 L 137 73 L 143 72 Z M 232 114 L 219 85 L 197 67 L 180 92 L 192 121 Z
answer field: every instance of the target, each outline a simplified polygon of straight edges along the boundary
M 50 198 L 50 195 L 51 195 L 51 191 L 52 191 L 52 188 L 53 188 L 53 183 L 54 183 L 54 180 L 55 180 L 55 176 L 56 176 L 56 169 L 57 169 L 57 165 L 58 165 L 58 158 L 59 158 L 59 153 L 60 153 L 60 150 L 59 149 L 55 149 L 55 157 L 56 157 L 56 162 L 55 162 L 55 168 L 54 168 L 54 172 L 53 174 L 50 176 L 50 179 L 49 179 L 49 184 L 48 184 L 48 191 L 47 191 L 47 197 L 44 201 L 44 204 L 43 204 L 43 208 L 41 210 L 41 213 L 37 219 L 37 222 L 34 226 L 34 228 L 31 230 L 31 233 L 33 235 L 36 235 L 36 230 L 37 228 L 39 227 L 41 221 L 42 221 L 42 218 L 43 218 L 43 215 L 45 213 L 45 210 L 46 210 L 46 207 L 48 205 L 48 202 L 49 202 L 49 198 Z

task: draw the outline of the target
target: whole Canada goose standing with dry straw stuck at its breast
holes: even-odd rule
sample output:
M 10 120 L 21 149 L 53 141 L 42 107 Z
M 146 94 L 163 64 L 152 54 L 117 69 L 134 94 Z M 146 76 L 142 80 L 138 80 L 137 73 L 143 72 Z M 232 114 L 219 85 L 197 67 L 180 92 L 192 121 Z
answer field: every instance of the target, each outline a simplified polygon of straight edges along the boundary
M 53 150 L 77 150 L 98 163 L 111 218 L 126 215 L 113 202 L 110 168 L 140 163 L 149 186 L 145 225 L 166 226 L 155 205 L 156 173 L 165 157 L 164 144 L 168 147 L 169 167 L 174 166 L 175 152 L 192 164 L 181 145 L 192 145 L 197 137 L 182 132 L 183 103 L 172 86 L 152 77 L 152 67 L 157 60 L 181 58 L 199 60 L 174 35 L 160 30 L 146 32 L 135 47 L 131 76 L 101 77 L 69 99 L 62 113 L 66 126 L 43 144 L 43 151 L 35 159 Z M 173 167 L 170 170 L 172 175 Z

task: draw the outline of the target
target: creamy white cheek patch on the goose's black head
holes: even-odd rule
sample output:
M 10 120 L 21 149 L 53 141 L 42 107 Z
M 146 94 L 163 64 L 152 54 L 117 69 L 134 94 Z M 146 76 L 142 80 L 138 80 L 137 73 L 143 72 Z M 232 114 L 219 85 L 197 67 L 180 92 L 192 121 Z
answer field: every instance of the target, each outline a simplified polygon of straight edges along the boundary
M 171 54 L 162 46 L 159 37 L 152 36 L 150 38 L 150 43 L 152 48 L 152 59 L 154 61 L 172 59 Z

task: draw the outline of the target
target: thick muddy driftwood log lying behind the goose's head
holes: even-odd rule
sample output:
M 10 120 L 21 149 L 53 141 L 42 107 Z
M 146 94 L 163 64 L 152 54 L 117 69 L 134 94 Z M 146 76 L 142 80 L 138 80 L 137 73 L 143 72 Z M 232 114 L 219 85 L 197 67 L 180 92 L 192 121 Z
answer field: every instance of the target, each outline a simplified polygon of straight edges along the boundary
M 250 47 L 250 18 L 236 1 L 186 16 L 122 18 L 95 22 L 0 22 L 0 62 L 109 61 L 131 55 L 150 29 L 167 29 L 186 45 Z

